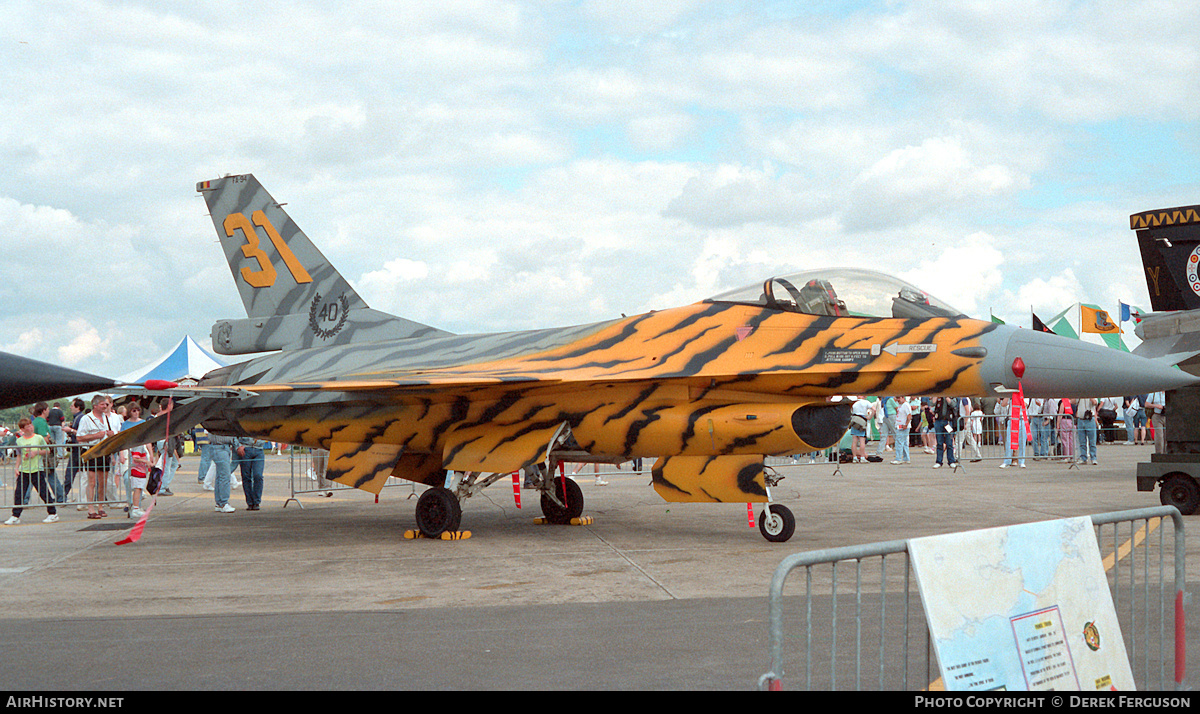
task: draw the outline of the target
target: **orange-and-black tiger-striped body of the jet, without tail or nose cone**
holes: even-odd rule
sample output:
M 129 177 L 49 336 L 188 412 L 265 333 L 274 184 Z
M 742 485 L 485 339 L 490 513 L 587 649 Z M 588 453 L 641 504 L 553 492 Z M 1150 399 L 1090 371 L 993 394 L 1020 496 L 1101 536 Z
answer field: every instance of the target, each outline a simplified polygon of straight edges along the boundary
M 391 444 L 403 454 L 439 455 L 451 470 L 506 473 L 544 461 L 564 422 L 578 448 L 595 456 L 761 457 L 836 443 L 848 404 L 826 397 L 980 394 L 982 358 L 954 353 L 976 354 L 961 348 L 978 347 L 992 329 L 965 318 L 832 318 L 701 302 L 571 328 L 562 338 L 545 330 L 436 338 L 409 355 L 390 344 L 294 350 L 218 371 L 202 384 L 271 385 L 229 403 L 215 428 L 331 451 L 335 444 Z M 882 349 L 901 340 L 937 349 Z M 439 341 L 446 342 L 442 349 Z M 822 358 L 847 349 L 875 356 L 866 364 Z M 464 352 L 484 359 L 448 356 Z M 493 354 L 500 356 L 486 359 Z M 340 389 L 343 382 L 352 389 Z M 348 469 L 336 480 L 377 492 L 378 474 L 392 473 L 392 463 Z M 722 493 L 719 500 L 766 499 L 761 487 Z

